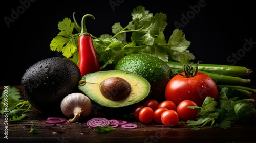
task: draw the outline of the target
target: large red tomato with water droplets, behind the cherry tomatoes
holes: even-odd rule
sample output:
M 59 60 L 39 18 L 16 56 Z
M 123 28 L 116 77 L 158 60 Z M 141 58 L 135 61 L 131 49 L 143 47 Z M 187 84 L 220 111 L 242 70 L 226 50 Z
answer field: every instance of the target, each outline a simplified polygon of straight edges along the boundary
M 181 73 L 184 75 L 184 72 Z M 208 75 L 197 72 L 194 77 L 175 75 L 165 88 L 165 99 L 173 101 L 176 106 L 183 100 L 192 100 L 202 106 L 207 96 L 216 100 L 218 89 L 214 80 Z

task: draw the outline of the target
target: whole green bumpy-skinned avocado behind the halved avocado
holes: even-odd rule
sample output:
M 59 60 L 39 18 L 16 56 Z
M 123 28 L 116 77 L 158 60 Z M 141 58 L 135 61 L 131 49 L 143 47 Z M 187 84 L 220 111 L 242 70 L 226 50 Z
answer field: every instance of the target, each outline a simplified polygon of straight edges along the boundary
M 145 78 L 151 84 L 151 98 L 165 100 L 165 88 L 173 77 L 172 70 L 161 59 L 146 54 L 130 54 L 120 59 L 115 70 L 130 71 Z

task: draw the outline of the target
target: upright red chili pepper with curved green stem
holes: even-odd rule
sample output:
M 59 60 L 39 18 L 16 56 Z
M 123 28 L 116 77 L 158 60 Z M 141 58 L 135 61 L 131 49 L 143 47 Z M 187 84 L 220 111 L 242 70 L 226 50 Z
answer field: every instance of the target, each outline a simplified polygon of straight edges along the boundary
M 86 29 L 86 18 L 91 17 L 95 19 L 95 17 L 91 14 L 86 14 L 82 17 L 82 26 L 81 26 L 81 34 L 78 39 L 78 52 L 79 52 L 79 63 L 78 67 L 81 71 L 81 75 L 84 76 L 89 73 L 94 73 L 99 71 L 99 62 L 96 51 L 93 46 L 93 40 L 91 35 L 87 32 Z

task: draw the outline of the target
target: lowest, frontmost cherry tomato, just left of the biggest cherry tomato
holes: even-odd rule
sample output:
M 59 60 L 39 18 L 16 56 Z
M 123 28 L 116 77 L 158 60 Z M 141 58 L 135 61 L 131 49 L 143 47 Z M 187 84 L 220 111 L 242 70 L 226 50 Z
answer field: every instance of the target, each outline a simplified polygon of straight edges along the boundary
M 166 126 L 175 126 L 179 122 L 179 115 L 174 110 L 167 110 L 161 114 L 161 121 Z

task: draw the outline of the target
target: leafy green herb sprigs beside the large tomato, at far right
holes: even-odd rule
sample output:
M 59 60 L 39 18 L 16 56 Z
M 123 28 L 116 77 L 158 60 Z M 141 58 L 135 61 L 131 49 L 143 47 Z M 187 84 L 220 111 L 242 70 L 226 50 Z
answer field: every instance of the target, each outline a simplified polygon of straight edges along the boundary
M 209 125 L 212 128 L 230 128 L 234 124 L 255 124 L 256 110 L 254 105 L 239 97 L 228 98 L 228 88 L 218 93 L 218 98 L 206 97 L 202 107 L 189 106 L 198 110 L 197 120 L 188 120 L 187 126 L 193 130 Z

